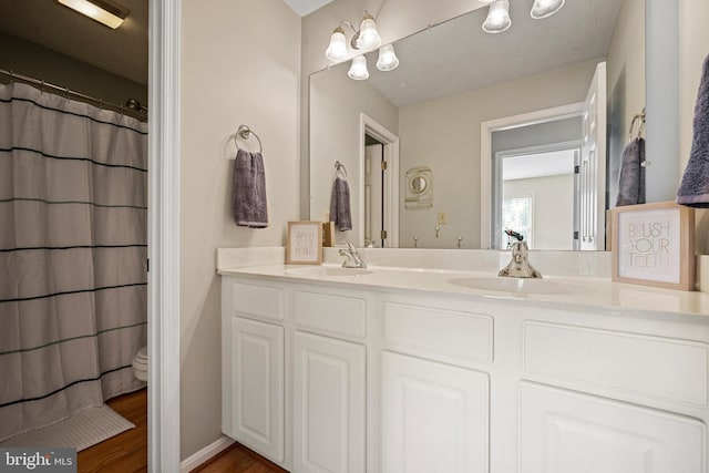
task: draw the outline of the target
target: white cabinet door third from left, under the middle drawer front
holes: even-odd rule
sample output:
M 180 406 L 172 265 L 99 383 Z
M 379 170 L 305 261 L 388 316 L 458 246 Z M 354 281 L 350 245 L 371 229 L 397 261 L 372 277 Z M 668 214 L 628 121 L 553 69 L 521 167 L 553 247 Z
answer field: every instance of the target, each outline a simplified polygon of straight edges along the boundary
M 487 472 L 484 373 L 382 353 L 382 472 Z

